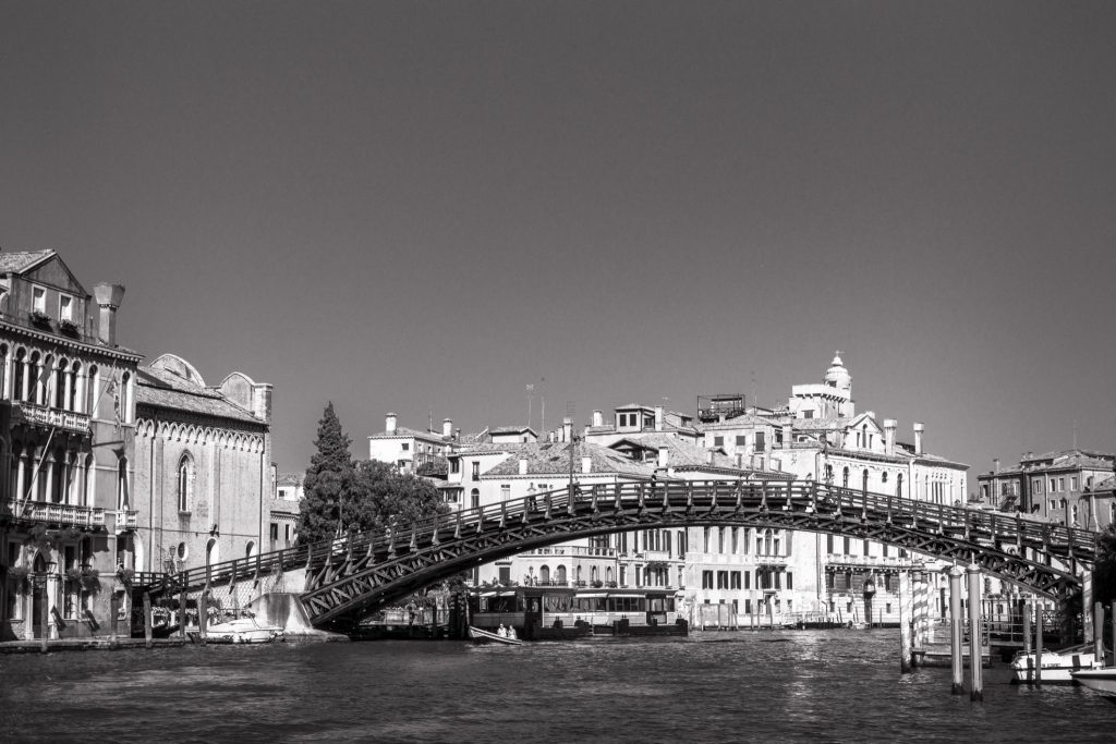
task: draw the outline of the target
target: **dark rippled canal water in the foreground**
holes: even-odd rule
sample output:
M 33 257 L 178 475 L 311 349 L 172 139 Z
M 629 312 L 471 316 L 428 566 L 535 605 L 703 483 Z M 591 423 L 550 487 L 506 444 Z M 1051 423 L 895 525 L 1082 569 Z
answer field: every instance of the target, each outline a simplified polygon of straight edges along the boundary
M 1081 687 L 984 702 L 901 675 L 897 630 L 475 647 L 187 646 L 0 656 L 4 742 L 1112 742 Z

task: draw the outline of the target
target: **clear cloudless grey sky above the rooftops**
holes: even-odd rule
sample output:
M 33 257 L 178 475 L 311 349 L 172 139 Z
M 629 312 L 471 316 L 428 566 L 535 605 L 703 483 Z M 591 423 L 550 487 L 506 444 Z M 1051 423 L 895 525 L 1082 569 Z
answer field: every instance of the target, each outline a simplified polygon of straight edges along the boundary
M 0 2 L 0 247 L 121 342 L 475 431 L 785 402 L 1116 450 L 1116 3 Z M 542 381 L 545 378 L 545 383 Z

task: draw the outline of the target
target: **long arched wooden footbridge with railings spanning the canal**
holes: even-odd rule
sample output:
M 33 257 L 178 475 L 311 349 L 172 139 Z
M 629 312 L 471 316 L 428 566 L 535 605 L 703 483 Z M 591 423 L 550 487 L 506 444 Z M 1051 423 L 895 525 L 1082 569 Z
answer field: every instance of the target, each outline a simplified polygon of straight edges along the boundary
M 684 526 L 749 526 L 875 540 L 975 562 L 1048 597 L 1077 588 L 1096 533 L 998 512 L 865 493 L 811 481 L 608 484 L 464 510 L 347 538 L 215 563 L 173 577 L 174 591 L 306 569 L 302 603 L 329 625 L 374 611 L 480 563 L 577 538 Z M 169 577 L 170 578 L 170 577 Z

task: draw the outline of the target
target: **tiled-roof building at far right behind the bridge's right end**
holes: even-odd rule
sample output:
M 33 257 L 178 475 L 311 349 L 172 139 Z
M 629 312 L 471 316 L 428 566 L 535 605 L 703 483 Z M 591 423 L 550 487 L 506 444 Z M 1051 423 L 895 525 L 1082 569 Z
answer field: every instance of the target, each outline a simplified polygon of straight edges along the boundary
M 1104 529 L 1116 523 L 1112 486 L 1116 455 L 1090 450 L 1026 453 L 1013 467 L 977 476 L 980 501 L 1004 512 L 1069 526 Z

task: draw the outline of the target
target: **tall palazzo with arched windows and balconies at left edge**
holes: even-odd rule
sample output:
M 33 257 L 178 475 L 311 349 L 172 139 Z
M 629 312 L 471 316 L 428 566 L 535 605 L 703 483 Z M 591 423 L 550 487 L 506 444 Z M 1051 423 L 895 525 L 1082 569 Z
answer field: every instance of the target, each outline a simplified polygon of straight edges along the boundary
M 143 550 L 136 367 L 118 284 L 87 292 L 55 251 L 0 253 L 0 638 L 107 631 Z

